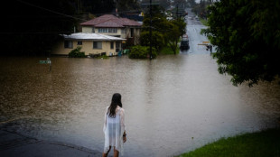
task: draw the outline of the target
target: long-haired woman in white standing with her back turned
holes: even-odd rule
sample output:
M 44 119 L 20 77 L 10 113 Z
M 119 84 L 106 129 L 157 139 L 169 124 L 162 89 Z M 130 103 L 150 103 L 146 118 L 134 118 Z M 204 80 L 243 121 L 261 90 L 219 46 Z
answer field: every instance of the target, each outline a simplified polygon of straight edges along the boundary
M 125 110 L 122 108 L 121 95 L 115 93 L 110 106 L 106 107 L 105 122 L 103 127 L 105 145 L 102 157 L 107 157 L 111 147 L 114 147 L 114 157 L 124 152 L 126 143 Z

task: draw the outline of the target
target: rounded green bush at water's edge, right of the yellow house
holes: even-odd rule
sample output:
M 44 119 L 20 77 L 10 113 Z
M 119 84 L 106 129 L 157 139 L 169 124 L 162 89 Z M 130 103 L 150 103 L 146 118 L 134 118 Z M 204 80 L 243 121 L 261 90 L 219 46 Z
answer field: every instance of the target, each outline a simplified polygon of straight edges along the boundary
M 131 48 L 131 51 L 128 53 L 129 59 L 148 59 L 150 54 L 149 46 L 134 46 Z M 155 59 L 157 53 L 154 48 L 152 48 L 152 58 Z

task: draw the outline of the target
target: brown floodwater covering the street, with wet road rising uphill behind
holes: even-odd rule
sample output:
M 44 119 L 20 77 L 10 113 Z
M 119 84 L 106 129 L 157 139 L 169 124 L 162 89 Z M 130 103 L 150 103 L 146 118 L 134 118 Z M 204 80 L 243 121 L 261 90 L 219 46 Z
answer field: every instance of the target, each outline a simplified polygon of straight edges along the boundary
M 129 157 L 178 155 L 279 125 L 277 82 L 232 86 L 198 45 L 207 38 L 194 21 L 188 18 L 190 50 L 156 60 L 57 57 L 49 71 L 39 64 L 45 58 L 0 58 L 0 126 L 102 152 L 105 108 L 116 92 L 126 110 Z

